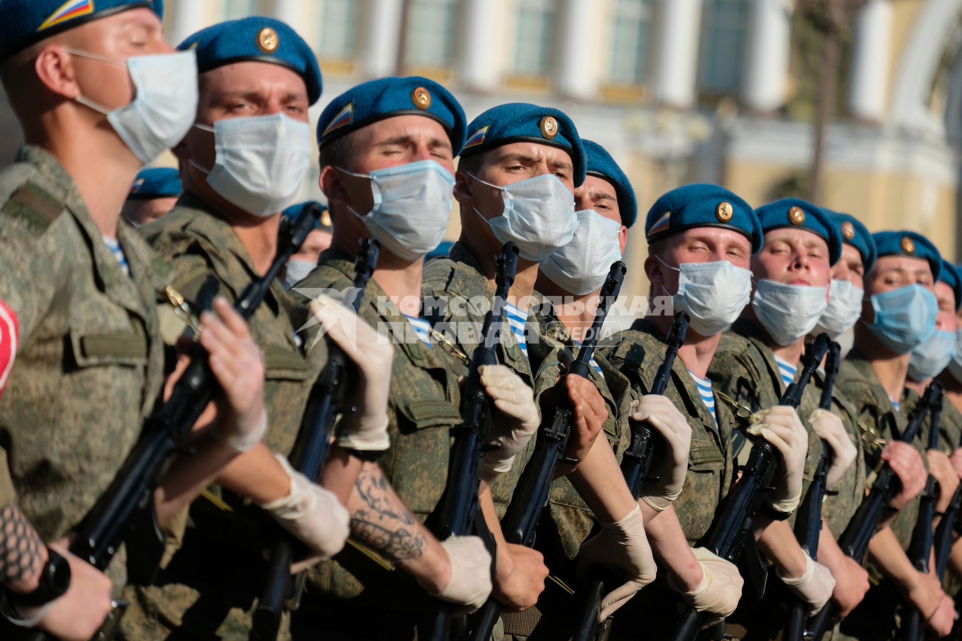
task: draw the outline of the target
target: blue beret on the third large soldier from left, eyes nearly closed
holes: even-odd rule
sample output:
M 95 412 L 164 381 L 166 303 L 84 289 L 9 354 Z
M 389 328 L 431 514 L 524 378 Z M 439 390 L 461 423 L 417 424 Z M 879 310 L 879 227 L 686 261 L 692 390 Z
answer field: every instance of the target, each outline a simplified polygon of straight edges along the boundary
M 454 155 L 461 152 L 468 121 L 465 110 L 450 91 L 420 76 L 378 78 L 344 91 L 321 111 L 317 145 L 323 147 L 373 122 L 405 114 L 440 122 L 451 138 Z

